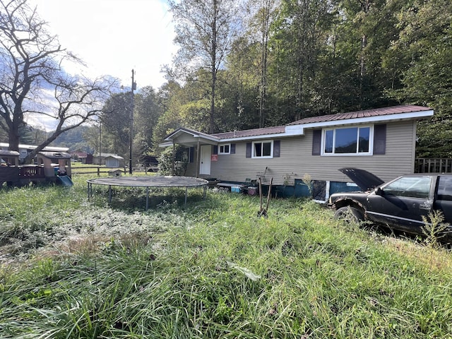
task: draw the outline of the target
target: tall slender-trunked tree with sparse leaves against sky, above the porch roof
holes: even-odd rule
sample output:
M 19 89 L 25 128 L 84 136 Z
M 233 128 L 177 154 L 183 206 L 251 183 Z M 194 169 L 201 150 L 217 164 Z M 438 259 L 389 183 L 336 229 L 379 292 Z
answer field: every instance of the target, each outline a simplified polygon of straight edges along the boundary
M 224 67 L 232 37 L 239 18 L 239 2 L 235 0 L 181 0 L 169 1 L 176 21 L 177 37 L 181 47 L 174 59 L 175 69 L 184 78 L 201 71 L 209 74 L 210 112 L 209 132 L 215 130 L 215 91 L 218 72 Z

